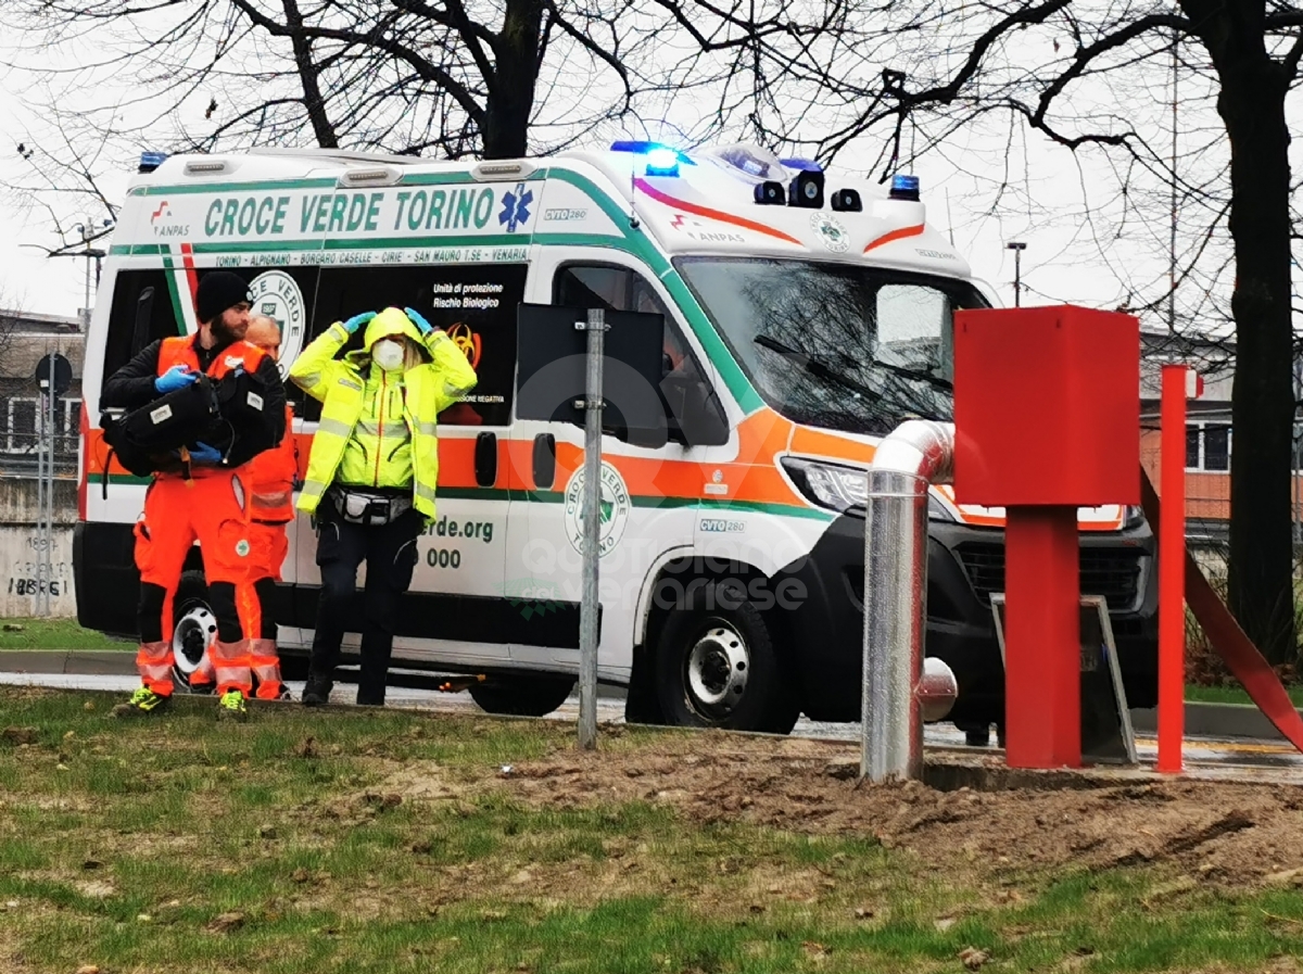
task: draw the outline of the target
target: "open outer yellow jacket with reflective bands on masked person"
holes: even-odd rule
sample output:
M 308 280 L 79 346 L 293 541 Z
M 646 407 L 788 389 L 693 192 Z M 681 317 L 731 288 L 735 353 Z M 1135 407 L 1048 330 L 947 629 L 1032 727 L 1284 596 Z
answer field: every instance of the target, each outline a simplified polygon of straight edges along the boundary
M 388 314 L 388 313 L 386 313 Z M 405 315 L 399 314 L 403 322 Z M 395 327 L 391 333 L 403 333 L 420 341 L 431 361 L 403 374 L 403 421 L 410 434 L 408 465 L 394 461 L 386 467 L 379 457 L 379 473 L 366 483 L 399 486 L 395 477 L 408 477 L 412 483 L 412 501 L 425 517 L 434 518 L 434 494 L 439 479 L 438 417 L 461 396 L 474 388 L 476 372 L 465 353 L 442 331 L 421 336 L 414 327 Z M 367 328 L 367 346 L 380 333 Z M 298 497 L 298 509 L 313 513 L 326 490 L 340 473 L 344 452 L 354 436 L 371 435 L 369 428 L 357 428 L 366 411 L 366 380 L 361 362 L 351 355 L 336 359 L 335 354 L 348 341 L 349 333 L 336 322 L 318 336 L 294 361 L 289 378 L 313 398 L 322 402 L 322 417 L 313 436 L 313 451 L 308 458 L 308 475 Z M 375 431 L 378 432 L 378 430 Z M 401 483 L 407 483 L 403 480 Z

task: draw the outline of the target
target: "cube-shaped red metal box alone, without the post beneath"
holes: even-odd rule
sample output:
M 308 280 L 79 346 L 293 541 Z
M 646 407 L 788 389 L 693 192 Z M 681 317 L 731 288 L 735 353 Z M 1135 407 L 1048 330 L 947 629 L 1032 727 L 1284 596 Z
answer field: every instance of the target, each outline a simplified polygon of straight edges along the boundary
M 1072 305 L 955 313 L 955 496 L 1139 504 L 1139 320 Z

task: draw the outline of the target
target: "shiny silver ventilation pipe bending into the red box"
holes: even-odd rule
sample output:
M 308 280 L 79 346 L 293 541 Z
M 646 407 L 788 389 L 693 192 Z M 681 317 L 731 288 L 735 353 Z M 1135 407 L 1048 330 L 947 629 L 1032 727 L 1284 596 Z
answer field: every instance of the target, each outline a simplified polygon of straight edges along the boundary
M 928 488 L 954 474 L 954 423 L 909 419 L 878 444 L 864 512 L 864 686 L 860 777 L 916 779 L 923 724 L 941 720 L 955 675 L 924 659 Z

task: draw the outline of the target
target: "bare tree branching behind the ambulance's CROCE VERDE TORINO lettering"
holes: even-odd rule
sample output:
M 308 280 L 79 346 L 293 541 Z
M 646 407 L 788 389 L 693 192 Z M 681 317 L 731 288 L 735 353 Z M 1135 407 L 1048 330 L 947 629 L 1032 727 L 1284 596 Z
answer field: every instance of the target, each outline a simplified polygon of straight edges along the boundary
M 631 9 L 631 0 L 13 0 L 0 21 L 22 31 L 23 49 L 40 51 L 39 61 L 18 51 L 12 63 L 47 77 L 52 103 L 86 103 L 87 83 L 112 78 L 120 91 L 129 79 L 126 98 L 90 112 L 119 138 L 163 130 L 199 150 L 311 141 L 506 158 L 629 111 L 644 82 L 628 48 L 654 33 Z

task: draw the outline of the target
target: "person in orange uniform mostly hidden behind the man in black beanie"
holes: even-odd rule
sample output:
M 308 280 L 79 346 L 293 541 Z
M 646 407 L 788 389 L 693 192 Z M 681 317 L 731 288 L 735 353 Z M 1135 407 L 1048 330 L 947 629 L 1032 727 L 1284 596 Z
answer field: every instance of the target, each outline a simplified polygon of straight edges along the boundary
M 245 341 L 280 361 L 280 326 L 266 315 L 249 319 Z M 294 520 L 298 449 L 291 432 L 294 413 L 285 406 L 285 436 L 279 447 L 249 461 L 249 574 L 236 589 L 240 625 L 249 641 L 249 663 L 261 701 L 288 701 L 276 655 L 276 617 L 271 611 L 280 566 L 289 552 L 285 525 Z

